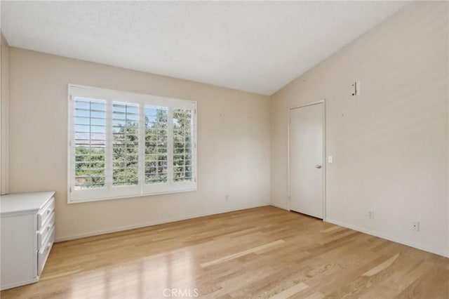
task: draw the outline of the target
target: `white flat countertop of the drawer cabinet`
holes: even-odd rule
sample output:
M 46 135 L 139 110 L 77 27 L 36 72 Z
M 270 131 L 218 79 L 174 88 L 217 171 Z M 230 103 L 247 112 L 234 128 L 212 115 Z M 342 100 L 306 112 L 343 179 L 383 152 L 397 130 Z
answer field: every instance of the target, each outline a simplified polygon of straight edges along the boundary
M 54 194 L 54 191 L 47 191 L 0 195 L 0 213 L 6 215 L 39 211 Z

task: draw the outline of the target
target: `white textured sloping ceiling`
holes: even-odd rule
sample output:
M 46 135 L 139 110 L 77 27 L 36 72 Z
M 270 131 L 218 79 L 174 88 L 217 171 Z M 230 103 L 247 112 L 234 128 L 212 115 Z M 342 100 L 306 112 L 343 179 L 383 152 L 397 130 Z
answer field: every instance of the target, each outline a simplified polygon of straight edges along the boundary
M 272 95 L 404 1 L 1 1 L 10 46 Z

